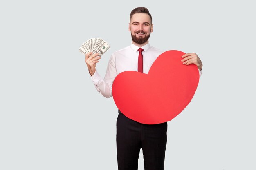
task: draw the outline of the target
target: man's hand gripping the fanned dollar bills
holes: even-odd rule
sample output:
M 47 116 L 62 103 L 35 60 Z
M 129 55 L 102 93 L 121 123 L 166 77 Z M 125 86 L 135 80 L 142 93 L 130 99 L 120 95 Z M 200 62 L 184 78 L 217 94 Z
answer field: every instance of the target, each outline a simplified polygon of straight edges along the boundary
M 85 63 L 88 67 L 88 71 L 91 76 L 94 75 L 94 73 L 96 71 L 96 63 L 99 62 L 98 61 L 99 59 L 101 59 L 101 57 L 97 57 L 99 55 L 99 53 L 94 53 L 94 54 L 92 54 L 92 53 L 93 52 L 90 52 L 85 55 Z

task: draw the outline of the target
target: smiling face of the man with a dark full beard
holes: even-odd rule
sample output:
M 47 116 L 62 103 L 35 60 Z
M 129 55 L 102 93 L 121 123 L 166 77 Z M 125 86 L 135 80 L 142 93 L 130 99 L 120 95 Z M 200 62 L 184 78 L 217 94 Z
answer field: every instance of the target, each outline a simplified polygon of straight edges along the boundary
M 150 16 L 146 13 L 135 13 L 132 15 L 129 31 L 131 31 L 133 42 L 137 44 L 147 43 L 150 33 L 153 32 Z

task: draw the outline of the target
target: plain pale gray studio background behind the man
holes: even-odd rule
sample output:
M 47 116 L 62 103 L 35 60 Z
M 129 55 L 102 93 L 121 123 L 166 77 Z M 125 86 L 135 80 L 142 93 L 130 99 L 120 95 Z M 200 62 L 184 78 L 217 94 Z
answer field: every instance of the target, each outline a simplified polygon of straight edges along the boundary
M 153 16 L 150 45 L 203 62 L 191 103 L 168 122 L 165 169 L 256 169 L 252 1 L 16 0 L 0 5 L 1 170 L 117 170 L 117 107 L 95 90 L 78 49 L 96 37 L 110 44 L 103 77 L 131 43 L 140 6 Z

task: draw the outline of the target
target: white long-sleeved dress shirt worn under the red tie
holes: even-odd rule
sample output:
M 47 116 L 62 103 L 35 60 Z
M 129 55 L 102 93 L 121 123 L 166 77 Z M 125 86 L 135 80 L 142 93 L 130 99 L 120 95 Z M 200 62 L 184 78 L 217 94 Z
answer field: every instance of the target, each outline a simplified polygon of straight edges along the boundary
M 97 71 L 92 75 L 92 81 L 95 88 L 104 97 L 109 98 L 112 96 L 112 84 L 119 73 L 124 71 L 138 71 L 139 48 L 140 47 L 131 43 L 130 46 L 113 53 L 108 62 L 108 68 L 104 79 L 101 78 Z M 164 51 L 150 46 L 149 43 L 141 48 L 144 49 L 144 51 L 142 51 L 143 73 L 148 74 L 155 59 L 157 59 L 157 57 Z M 182 58 L 180 60 L 182 60 Z M 199 74 L 202 74 L 200 70 Z

